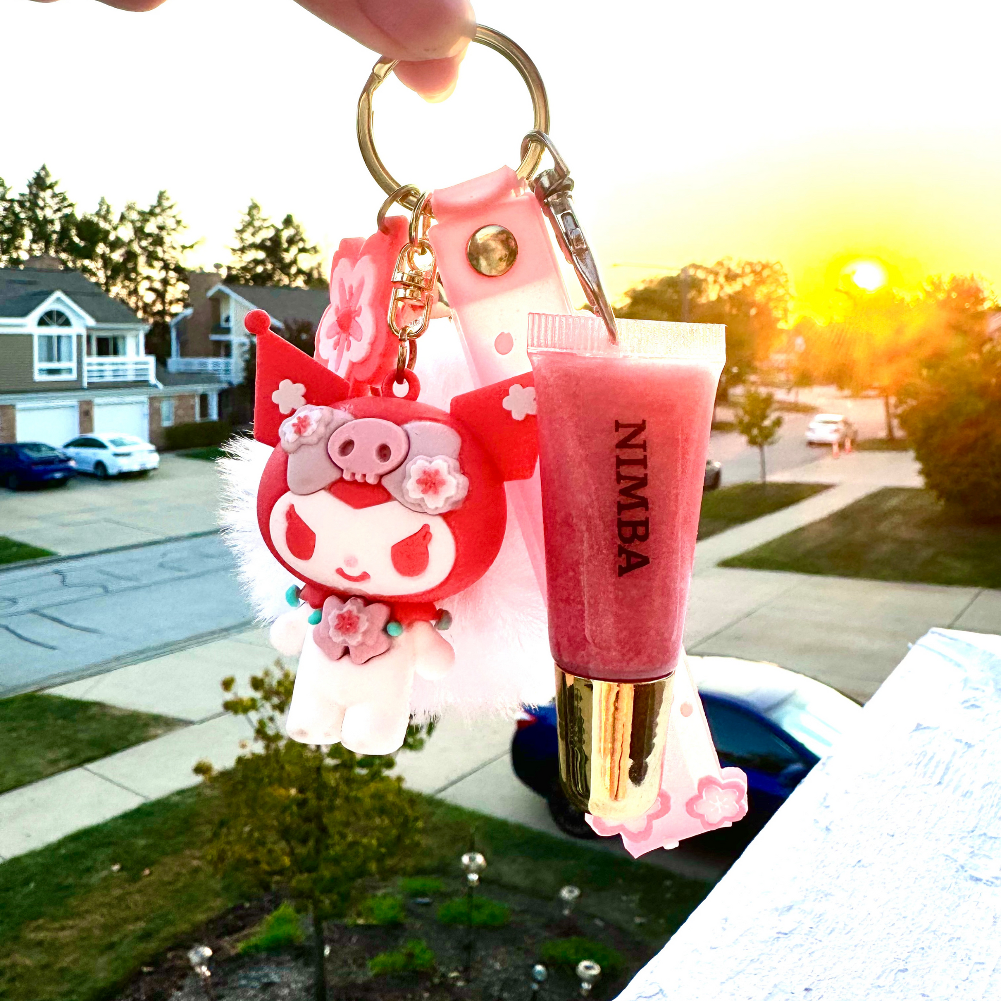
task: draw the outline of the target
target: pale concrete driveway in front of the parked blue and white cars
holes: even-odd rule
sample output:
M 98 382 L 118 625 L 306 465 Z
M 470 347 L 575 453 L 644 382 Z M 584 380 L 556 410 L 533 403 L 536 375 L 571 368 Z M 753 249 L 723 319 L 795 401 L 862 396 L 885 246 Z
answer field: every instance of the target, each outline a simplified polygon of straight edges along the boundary
M 140 478 L 81 475 L 66 486 L 0 489 L 0 535 L 73 556 L 210 532 L 218 505 L 213 462 L 167 454 Z

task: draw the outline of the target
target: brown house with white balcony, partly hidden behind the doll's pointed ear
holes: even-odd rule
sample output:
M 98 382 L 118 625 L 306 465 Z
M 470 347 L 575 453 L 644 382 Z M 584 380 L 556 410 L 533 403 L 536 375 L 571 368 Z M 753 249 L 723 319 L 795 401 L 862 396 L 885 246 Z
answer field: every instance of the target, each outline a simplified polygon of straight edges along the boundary
M 274 330 L 306 347 L 330 301 L 325 288 L 230 284 L 214 271 L 189 272 L 188 285 L 187 308 L 170 323 L 167 371 L 216 375 L 229 385 L 243 381 L 248 312 L 263 309 Z

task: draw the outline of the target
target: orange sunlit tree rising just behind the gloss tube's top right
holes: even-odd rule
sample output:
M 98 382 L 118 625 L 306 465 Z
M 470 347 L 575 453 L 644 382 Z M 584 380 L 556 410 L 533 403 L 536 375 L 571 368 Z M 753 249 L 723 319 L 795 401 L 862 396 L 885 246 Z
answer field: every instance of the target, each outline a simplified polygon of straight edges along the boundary
M 718 399 L 746 381 L 765 360 L 789 315 L 791 293 L 785 268 L 775 261 L 689 264 L 631 288 L 616 310 L 624 319 L 724 323 L 727 365 Z

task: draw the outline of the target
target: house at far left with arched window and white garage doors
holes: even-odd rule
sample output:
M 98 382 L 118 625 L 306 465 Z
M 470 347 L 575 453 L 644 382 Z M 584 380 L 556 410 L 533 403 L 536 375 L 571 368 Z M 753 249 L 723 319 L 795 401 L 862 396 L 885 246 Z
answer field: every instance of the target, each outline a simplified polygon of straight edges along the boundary
M 54 257 L 0 268 L 0 442 L 118 431 L 163 445 L 164 427 L 216 417 L 224 381 L 158 371 L 147 329 Z

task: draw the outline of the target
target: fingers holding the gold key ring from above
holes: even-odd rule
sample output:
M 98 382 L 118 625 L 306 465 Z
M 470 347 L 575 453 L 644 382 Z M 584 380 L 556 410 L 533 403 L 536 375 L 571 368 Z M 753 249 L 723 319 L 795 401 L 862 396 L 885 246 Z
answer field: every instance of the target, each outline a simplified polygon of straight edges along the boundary
M 159 7 L 164 0 L 101 2 L 119 10 L 146 11 Z M 443 101 L 454 90 L 458 64 L 476 30 L 468 0 L 296 0 L 296 3 L 373 51 L 399 59 L 396 75 L 427 101 Z

